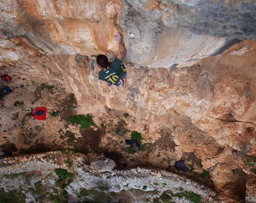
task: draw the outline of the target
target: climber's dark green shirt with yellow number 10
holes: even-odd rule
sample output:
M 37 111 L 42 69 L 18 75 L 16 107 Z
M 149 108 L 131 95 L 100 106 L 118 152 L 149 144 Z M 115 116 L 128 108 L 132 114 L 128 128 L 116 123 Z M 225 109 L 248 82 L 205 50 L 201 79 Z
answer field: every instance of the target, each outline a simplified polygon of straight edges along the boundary
M 123 76 L 123 74 L 126 72 L 126 67 L 124 67 L 122 61 L 115 57 L 115 60 L 110 63 L 110 67 L 108 67 L 108 70 L 101 70 L 99 71 L 99 80 L 104 80 L 111 85 L 114 85 L 116 82 L 118 82 Z

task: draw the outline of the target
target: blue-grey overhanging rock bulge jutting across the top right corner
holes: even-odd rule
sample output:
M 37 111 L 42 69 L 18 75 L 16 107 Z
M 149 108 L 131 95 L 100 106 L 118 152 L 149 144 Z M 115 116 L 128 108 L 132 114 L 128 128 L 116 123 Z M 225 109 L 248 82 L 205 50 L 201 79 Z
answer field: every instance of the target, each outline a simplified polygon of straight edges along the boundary
M 255 1 L 127 1 L 168 27 L 183 27 L 199 35 L 255 39 Z

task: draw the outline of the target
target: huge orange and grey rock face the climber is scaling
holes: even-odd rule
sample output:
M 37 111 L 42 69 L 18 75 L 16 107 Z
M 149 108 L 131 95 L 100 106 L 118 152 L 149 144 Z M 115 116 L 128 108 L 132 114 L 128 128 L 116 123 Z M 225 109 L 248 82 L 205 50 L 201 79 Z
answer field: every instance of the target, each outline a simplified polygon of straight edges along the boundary
M 102 148 L 111 142 L 121 149 L 109 126 L 124 126 L 129 113 L 125 128 L 154 144 L 144 161 L 160 153 L 173 164 L 195 154 L 221 202 L 255 201 L 255 173 L 245 160 L 256 154 L 256 42 L 226 39 L 255 38 L 254 1 L 13 0 L 1 2 L 0 15 L 0 73 L 13 77 L 12 89 L 24 84 L 1 101 L 1 146 L 24 148 L 36 126 L 43 126 L 36 143 L 54 145 L 61 120 L 23 124 L 12 115 L 25 116 L 38 97 L 36 105 L 57 109 L 65 88 L 77 99 L 77 114 L 106 126 Z M 117 31 L 128 51 L 128 78 L 123 88 L 108 88 L 98 66 L 90 68 L 90 55 L 113 59 Z M 55 95 L 35 93 L 35 81 L 56 86 Z M 14 107 L 17 99 L 24 105 Z

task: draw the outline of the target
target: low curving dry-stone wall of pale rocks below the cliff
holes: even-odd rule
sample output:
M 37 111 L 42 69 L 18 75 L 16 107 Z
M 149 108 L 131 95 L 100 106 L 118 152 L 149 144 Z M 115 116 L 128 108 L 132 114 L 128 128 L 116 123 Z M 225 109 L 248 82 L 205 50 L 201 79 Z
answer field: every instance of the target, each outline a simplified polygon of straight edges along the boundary
M 74 157 L 77 157 L 76 154 L 73 158 Z M 81 155 L 79 155 L 79 157 L 81 157 Z M 68 156 L 60 151 L 5 157 L 0 164 L 0 176 L 4 174 L 50 170 L 54 168 L 68 169 L 67 158 Z M 71 195 L 74 194 L 73 191 L 79 193 L 81 188 L 92 189 L 96 186 L 95 184 L 97 182 L 104 181 L 110 188 L 110 192 L 118 193 L 121 192 L 121 190 L 139 189 L 144 192 L 158 190 L 160 193 L 163 193 L 166 190 L 171 190 L 173 193 L 179 193 L 179 188 L 183 188 L 184 190 L 192 191 L 200 195 L 202 201 L 217 202 L 214 201 L 216 192 L 213 190 L 199 185 L 184 176 L 179 176 L 164 170 L 151 170 L 137 167 L 130 170 L 99 172 L 93 167 L 93 164 L 86 165 L 81 160 L 77 160 L 77 162 L 73 164 L 77 174 L 67 189 L 67 192 L 70 192 Z M 31 179 L 33 179 L 33 177 L 31 177 Z M 16 182 L 17 181 L 18 180 L 16 180 Z M 3 188 L 11 188 L 11 186 L 8 186 L 7 181 L 2 182 L 0 186 Z M 182 200 L 177 198 L 176 202 L 182 202 Z

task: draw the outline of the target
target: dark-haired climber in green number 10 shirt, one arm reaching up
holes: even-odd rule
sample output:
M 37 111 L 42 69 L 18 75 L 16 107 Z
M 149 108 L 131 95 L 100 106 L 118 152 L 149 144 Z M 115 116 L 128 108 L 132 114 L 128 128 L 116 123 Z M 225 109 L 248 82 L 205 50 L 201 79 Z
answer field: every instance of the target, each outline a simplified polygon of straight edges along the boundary
M 99 71 L 99 80 L 108 82 L 108 87 L 111 85 L 120 86 L 121 82 L 123 85 L 126 83 L 126 67 L 124 67 L 122 60 L 126 55 L 126 48 L 121 41 L 122 36 L 120 32 L 114 36 L 114 40 L 117 41 L 119 45 L 120 53 L 115 57 L 115 60 L 111 63 L 108 62 L 108 58 L 105 55 L 98 55 L 96 61 L 99 67 L 102 68 Z

